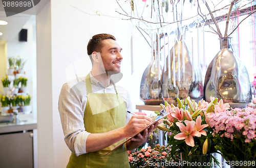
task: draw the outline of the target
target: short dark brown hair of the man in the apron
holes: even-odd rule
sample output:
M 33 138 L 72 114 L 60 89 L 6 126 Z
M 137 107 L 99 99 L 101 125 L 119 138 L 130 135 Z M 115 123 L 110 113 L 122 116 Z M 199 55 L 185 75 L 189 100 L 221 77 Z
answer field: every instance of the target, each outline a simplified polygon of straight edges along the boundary
M 89 40 L 87 45 L 87 54 L 89 55 L 92 62 L 93 62 L 92 53 L 101 52 L 102 41 L 105 39 L 116 40 L 116 38 L 110 34 L 96 34 L 92 37 L 92 39 Z

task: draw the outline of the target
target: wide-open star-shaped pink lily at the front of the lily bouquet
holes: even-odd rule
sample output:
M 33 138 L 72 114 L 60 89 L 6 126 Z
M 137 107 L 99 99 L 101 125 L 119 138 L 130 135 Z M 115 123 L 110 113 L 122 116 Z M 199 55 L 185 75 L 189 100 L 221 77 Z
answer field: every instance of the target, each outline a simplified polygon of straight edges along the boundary
M 194 147 L 195 141 L 193 136 L 200 137 L 201 134 L 194 130 L 195 121 L 187 121 L 185 120 L 186 126 L 184 124 L 177 122 L 176 125 L 180 128 L 181 133 L 178 133 L 174 136 L 177 140 L 183 140 L 185 139 L 185 142 L 188 146 Z

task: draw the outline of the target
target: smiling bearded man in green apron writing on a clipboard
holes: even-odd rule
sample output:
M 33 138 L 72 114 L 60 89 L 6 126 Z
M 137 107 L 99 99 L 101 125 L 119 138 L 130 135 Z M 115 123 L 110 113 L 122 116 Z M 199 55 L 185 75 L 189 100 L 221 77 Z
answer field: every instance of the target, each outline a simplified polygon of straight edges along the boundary
M 127 150 L 139 147 L 159 124 L 144 130 L 115 151 L 114 147 L 150 125 L 150 117 L 133 115 L 129 93 L 111 80 L 120 73 L 122 48 L 114 36 L 98 34 L 90 39 L 92 70 L 85 78 L 64 84 L 59 113 L 65 141 L 72 151 L 67 167 L 130 167 Z M 77 82 L 81 81 L 81 82 Z

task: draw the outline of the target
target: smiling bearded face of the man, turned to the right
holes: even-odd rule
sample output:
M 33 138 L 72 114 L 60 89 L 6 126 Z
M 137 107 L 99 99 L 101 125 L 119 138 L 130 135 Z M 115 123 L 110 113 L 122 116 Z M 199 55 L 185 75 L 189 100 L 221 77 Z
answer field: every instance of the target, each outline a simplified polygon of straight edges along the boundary
M 116 40 L 105 39 L 102 41 L 101 59 L 108 75 L 120 73 L 120 64 L 123 59 L 121 55 L 122 48 Z

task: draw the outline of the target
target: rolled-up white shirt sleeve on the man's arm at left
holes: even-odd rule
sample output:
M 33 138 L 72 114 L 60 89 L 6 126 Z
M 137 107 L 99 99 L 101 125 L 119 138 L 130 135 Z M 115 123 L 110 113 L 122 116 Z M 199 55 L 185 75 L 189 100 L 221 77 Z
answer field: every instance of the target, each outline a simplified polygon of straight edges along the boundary
M 85 82 L 84 82 L 85 84 Z M 87 102 L 86 87 L 79 87 L 76 91 L 72 82 L 64 84 L 61 88 L 58 110 L 61 119 L 65 142 L 71 152 L 79 156 L 86 152 L 86 140 L 89 132 L 84 128 L 83 112 Z

